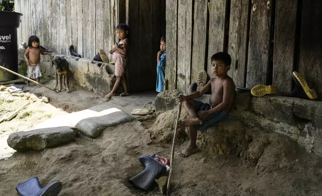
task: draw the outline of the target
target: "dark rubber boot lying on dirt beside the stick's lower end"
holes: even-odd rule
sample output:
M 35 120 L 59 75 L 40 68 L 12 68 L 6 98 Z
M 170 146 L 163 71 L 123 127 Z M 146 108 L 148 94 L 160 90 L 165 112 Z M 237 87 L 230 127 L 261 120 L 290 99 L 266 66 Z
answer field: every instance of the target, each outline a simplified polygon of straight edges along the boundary
M 129 181 L 135 187 L 147 191 L 154 184 L 155 179 L 158 179 L 166 171 L 166 167 L 147 155 L 140 155 L 139 161 L 145 166 L 145 169 L 130 178 Z

